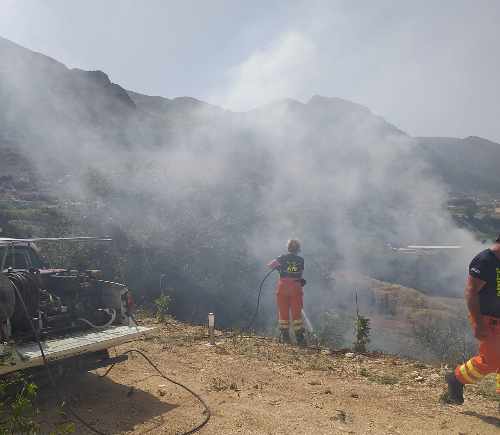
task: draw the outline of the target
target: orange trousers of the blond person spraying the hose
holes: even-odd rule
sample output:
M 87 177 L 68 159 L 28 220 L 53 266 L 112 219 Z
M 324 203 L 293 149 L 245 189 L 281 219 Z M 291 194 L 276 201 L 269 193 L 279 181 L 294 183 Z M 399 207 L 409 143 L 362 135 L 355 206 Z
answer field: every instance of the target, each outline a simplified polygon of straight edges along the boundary
M 290 309 L 292 311 L 292 323 L 294 332 L 305 331 L 302 322 L 302 286 L 297 281 L 299 278 L 280 278 L 278 290 L 276 291 L 276 304 L 279 308 L 279 327 L 288 330 L 290 328 Z

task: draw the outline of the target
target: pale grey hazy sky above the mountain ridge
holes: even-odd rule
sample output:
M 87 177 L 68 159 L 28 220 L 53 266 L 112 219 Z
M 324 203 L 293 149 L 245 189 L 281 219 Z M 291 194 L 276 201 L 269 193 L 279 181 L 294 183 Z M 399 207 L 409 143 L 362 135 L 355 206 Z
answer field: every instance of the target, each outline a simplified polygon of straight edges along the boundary
M 129 90 L 236 111 L 319 94 L 495 142 L 499 22 L 498 0 L 0 0 L 0 36 Z

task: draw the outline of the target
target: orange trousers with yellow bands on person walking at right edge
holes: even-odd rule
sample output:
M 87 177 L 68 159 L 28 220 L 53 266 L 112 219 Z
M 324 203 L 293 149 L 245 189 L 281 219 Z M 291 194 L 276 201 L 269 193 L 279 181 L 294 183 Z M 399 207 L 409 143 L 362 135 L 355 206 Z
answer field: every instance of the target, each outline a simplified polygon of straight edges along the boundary
M 474 328 L 472 316 L 469 319 Z M 458 366 L 455 376 L 462 384 L 474 384 L 487 374 L 497 373 L 497 392 L 500 395 L 500 319 L 483 316 L 488 327 L 486 340 L 479 342 L 479 355 Z

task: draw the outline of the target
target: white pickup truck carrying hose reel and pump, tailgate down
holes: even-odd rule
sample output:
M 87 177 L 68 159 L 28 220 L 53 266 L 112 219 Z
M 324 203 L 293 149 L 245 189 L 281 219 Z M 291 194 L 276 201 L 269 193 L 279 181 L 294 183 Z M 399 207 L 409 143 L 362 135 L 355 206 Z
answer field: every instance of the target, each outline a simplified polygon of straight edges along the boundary
M 0 377 L 21 369 L 36 381 L 46 377 L 32 325 L 55 377 L 124 361 L 127 355 L 111 358 L 108 349 L 152 329 L 137 325 L 124 284 L 100 279 L 100 270 L 54 268 L 42 259 L 46 242 L 113 239 L 0 238 Z

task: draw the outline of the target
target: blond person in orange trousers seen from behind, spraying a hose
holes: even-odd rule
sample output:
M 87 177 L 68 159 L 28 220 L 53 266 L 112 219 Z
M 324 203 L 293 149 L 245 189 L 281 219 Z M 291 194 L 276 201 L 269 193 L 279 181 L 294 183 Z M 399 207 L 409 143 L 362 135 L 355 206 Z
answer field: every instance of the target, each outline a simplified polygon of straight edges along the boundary
M 304 337 L 304 323 L 302 321 L 302 287 L 305 279 L 302 278 L 304 272 L 304 259 L 299 257 L 300 243 L 297 239 L 289 239 L 286 247 L 288 254 L 280 255 L 272 260 L 268 266 L 271 269 L 278 269 L 280 280 L 276 291 L 276 303 L 279 308 L 279 328 L 283 341 L 290 341 L 290 310 L 292 311 L 293 332 L 297 338 L 297 344 L 306 346 Z

